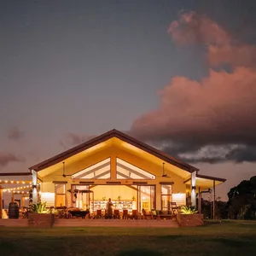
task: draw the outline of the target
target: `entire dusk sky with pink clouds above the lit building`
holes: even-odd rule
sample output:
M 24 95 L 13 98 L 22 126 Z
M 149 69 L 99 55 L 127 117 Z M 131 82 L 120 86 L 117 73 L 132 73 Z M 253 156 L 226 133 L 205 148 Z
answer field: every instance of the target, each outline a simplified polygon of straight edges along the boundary
M 1 1 L 0 172 L 112 130 L 256 175 L 256 3 Z

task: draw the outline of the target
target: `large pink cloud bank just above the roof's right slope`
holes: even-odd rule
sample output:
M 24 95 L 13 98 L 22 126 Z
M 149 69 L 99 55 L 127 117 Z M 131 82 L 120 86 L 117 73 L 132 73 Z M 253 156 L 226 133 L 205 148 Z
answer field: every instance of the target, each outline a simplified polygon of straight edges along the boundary
M 131 131 L 145 139 L 197 143 L 256 141 L 256 73 L 210 71 L 201 81 L 174 77 L 160 91 L 160 108 L 136 119 Z

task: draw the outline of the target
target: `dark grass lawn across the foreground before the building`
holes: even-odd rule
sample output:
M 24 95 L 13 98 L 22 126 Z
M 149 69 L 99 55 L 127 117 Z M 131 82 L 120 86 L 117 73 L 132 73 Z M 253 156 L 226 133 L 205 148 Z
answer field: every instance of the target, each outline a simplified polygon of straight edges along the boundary
M 0 227 L 0 255 L 256 255 L 256 222 L 182 229 Z

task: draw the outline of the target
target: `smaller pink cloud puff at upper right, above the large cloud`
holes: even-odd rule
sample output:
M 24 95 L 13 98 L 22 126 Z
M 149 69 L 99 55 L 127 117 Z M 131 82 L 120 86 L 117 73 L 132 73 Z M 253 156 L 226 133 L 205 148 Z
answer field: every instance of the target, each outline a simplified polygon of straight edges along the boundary
M 178 45 L 201 44 L 207 48 L 207 61 L 211 66 L 255 67 L 256 46 L 244 44 L 239 38 L 219 26 L 206 15 L 195 12 L 183 13 L 179 20 L 171 23 L 169 34 Z

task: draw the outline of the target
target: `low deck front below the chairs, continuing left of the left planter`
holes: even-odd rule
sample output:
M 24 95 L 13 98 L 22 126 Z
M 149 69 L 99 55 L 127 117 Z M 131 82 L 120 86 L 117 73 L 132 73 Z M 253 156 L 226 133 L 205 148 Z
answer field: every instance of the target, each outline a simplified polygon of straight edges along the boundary
M 0 227 L 28 227 L 28 220 L 0 219 Z M 176 221 L 171 219 L 66 219 L 57 218 L 53 227 L 134 227 L 134 228 L 178 228 Z

